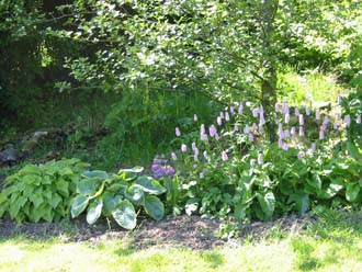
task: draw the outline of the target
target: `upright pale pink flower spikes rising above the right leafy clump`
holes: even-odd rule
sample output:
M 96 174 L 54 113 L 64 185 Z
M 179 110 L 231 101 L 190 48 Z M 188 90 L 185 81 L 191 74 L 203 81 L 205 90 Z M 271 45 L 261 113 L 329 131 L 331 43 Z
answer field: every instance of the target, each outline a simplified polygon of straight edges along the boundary
M 339 100 L 341 100 L 340 97 Z M 250 114 L 254 118 L 254 122 L 240 122 L 240 116 L 245 114 L 245 107 L 250 109 Z M 278 123 L 276 131 L 278 145 L 283 150 L 289 150 L 291 146 L 295 145 L 295 140 L 297 138 L 304 137 L 307 133 L 305 127 L 309 120 L 313 118 L 313 116 L 310 115 L 310 107 L 308 105 L 305 105 L 303 109 L 299 109 L 297 106 L 290 106 L 286 102 L 283 102 L 275 103 L 274 109 L 276 114 L 281 114 L 281 121 Z M 199 121 L 196 114 L 194 114 L 193 120 L 194 122 Z M 331 123 L 331 120 L 333 120 L 333 123 Z M 319 140 L 324 140 L 326 138 L 326 133 L 331 131 L 331 127 L 335 131 L 339 131 L 339 128 L 346 129 L 352 121 L 350 115 L 341 116 L 341 114 L 338 113 L 335 118 L 332 118 L 327 113 L 316 110 L 313 122 L 319 125 Z M 360 114 L 357 116 L 355 122 L 358 124 L 361 124 Z M 211 124 L 208 127 L 206 127 L 205 124 L 200 125 L 200 139 L 205 145 L 210 145 L 213 139 L 217 141 L 220 139 L 220 137 L 237 134 L 244 135 L 242 137 L 245 137 L 245 140 L 251 144 L 256 140 L 256 136 L 261 135 L 264 125 L 264 109 L 262 106 L 252 106 L 252 103 L 250 102 L 235 102 L 233 105 L 227 106 L 224 111 L 219 112 L 216 117 L 216 124 Z M 176 135 L 178 137 L 181 135 L 181 131 L 179 127 L 176 127 Z M 218 147 L 222 146 L 222 144 L 218 145 Z M 317 144 L 313 141 L 310 146 L 310 151 L 314 152 L 316 151 L 316 149 Z M 196 146 L 196 143 L 192 143 L 191 150 L 194 160 L 194 166 L 197 167 L 197 162 L 200 160 L 200 150 Z M 181 152 L 188 152 L 188 146 L 185 144 L 181 144 Z M 202 154 L 204 159 L 207 161 L 207 151 L 204 150 Z M 223 149 L 219 151 L 218 156 L 222 161 L 227 161 L 229 160 L 229 150 Z M 301 150 L 297 155 L 297 158 L 302 159 L 305 156 L 306 152 Z M 177 160 L 177 154 L 172 152 L 171 158 L 172 160 Z M 254 166 L 257 163 L 264 163 L 262 152 L 259 152 L 258 158 L 251 158 L 250 165 Z M 204 177 L 204 172 L 202 172 L 201 175 Z

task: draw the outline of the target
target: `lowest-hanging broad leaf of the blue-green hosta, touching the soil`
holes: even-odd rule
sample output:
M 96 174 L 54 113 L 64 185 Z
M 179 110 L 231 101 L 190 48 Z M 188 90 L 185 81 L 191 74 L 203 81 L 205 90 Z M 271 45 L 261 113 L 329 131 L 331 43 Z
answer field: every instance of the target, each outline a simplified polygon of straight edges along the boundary
M 121 201 L 120 205 L 112 212 L 115 222 L 123 228 L 134 229 L 136 227 L 136 212 L 129 201 Z

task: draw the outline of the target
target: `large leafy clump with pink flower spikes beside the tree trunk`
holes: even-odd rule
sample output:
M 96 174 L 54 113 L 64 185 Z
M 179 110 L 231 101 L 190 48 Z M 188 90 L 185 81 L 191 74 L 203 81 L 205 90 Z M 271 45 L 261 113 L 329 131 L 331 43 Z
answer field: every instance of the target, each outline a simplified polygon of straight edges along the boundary
M 242 113 L 238 103 L 226 107 L 214 126 L 216 135 L 204 124 L 196 133 L 181 128 L 177 149 L 181 144 L 188 148 L 176 150 L 173 179 L 188 214 L 245 223 L 291 212 L 304 214 L 315 207 L 361 205 L 362 149 L 347 133 L 361 128 L 355 116 L 350 112 L 340 116 L 341 107 L 336 105 L 336 116 L 323 111 L 316 120 L 313 111 L 294 107 L 286 110 L 290 120 L 285 121 L 286 113 L 276 106 L 279 143 L 270 143 L 262 111 L 251 103 L 246 103 Z M 296 133 L 291 132 L 293 127 Z

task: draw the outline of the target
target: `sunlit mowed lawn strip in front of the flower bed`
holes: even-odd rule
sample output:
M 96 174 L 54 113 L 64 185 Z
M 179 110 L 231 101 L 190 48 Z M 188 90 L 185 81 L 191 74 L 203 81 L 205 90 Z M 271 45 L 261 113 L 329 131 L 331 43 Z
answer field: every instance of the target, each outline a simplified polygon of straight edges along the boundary
M 213 250 L 137 250 L 125 240 L 14 236 L 0 240 L 0 271 L 362 271 L 362 212 L 326 212 L 303 234 L 265 237 Z

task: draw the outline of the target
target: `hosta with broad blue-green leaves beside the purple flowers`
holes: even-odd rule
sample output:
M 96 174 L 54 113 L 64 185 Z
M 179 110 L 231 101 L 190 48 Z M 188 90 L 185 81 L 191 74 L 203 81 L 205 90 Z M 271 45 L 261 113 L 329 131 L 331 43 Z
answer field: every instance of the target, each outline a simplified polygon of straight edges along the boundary
M 163 217 L 165 208 L 157 195 L 166 189 L 154 178 L 139 175 L 142 167 L 122 169 L 117 174 L 86 171 L 77 185 L 71 204 L 71 217 L 87 211 L 87 222 L 94 224 L 101 215 L 114 218 L 123 228 L 136 227 L 137 214 L 143 208 L 156 220 Z

